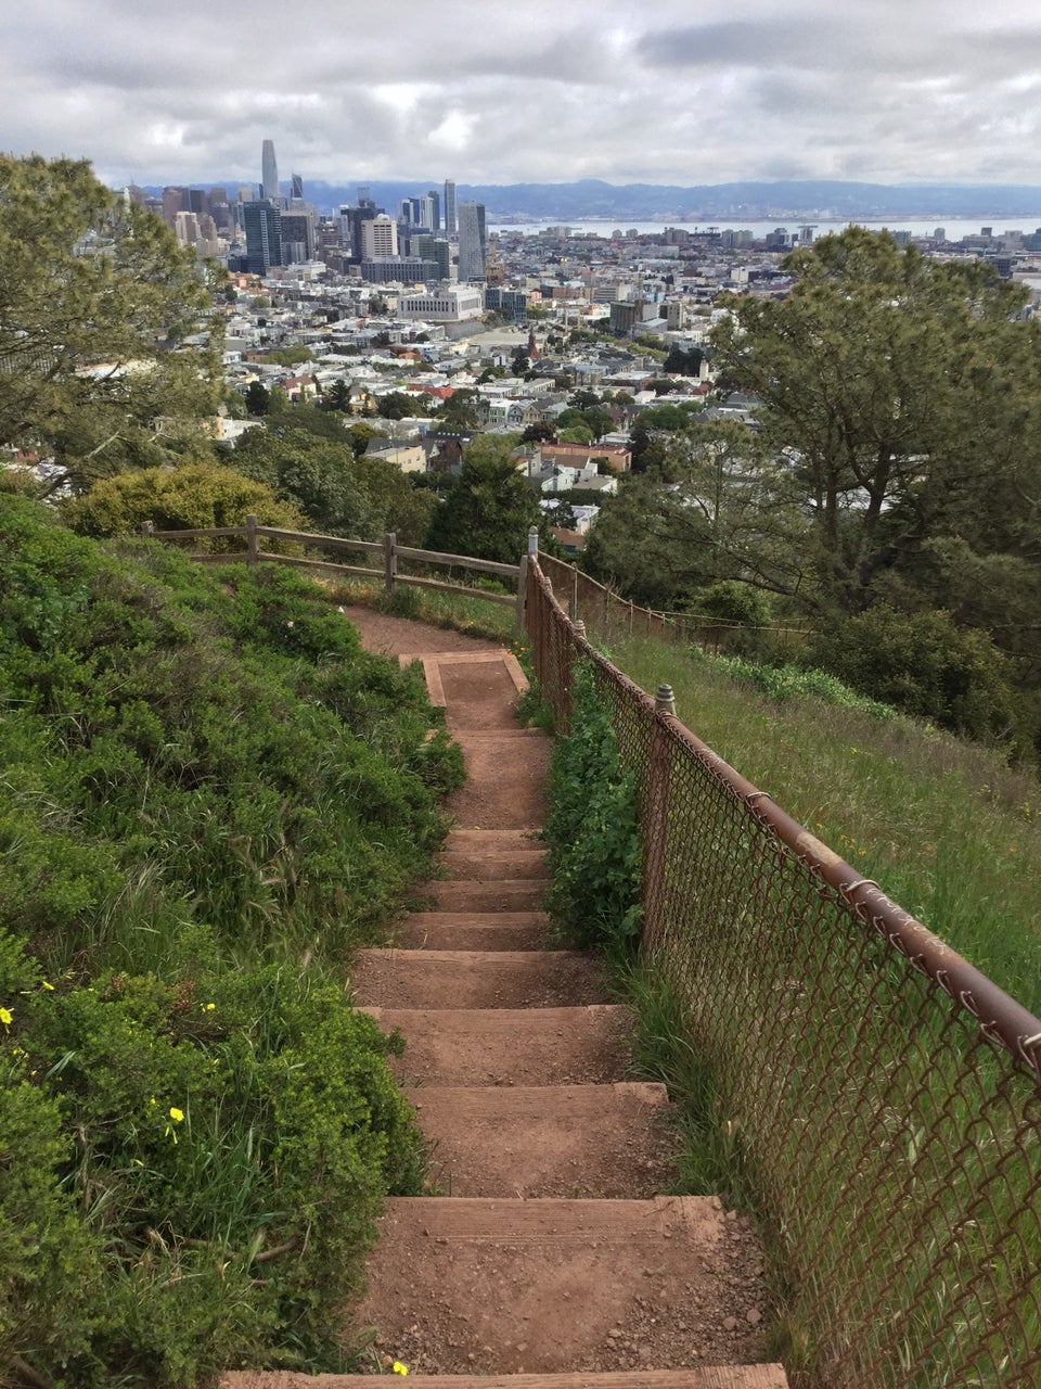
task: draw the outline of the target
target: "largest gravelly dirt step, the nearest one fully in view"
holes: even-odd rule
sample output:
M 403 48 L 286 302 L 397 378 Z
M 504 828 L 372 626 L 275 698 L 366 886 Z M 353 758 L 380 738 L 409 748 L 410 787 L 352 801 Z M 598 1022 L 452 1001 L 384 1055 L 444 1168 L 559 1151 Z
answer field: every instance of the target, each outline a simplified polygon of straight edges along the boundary
M 396 1197 L 355 1331 L 412 1372 L 675 1370 L 765 1358 L 762 1249 L 718 1197 Z

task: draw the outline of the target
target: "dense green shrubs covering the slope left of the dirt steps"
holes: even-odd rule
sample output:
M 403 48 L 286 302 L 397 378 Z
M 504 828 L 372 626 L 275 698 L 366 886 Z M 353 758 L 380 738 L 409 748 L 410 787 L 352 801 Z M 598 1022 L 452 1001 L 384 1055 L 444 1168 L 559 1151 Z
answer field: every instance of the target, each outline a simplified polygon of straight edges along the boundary
M 10 497 L 0 542 L 0 1379 L 335 1368 L 422 1146 L 332 961 L 426 868 L 458 753 L 289 571 Z

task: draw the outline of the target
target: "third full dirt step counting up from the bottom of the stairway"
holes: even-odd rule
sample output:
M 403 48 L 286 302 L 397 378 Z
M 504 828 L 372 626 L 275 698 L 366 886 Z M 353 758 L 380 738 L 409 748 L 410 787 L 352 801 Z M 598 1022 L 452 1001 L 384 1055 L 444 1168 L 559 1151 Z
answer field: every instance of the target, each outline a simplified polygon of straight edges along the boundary
M 633 1018 L 607 1003 L 586 1008 L 365 1008 L 384 1032 L 407 1085 L 602 1085 L 630 1060 Z

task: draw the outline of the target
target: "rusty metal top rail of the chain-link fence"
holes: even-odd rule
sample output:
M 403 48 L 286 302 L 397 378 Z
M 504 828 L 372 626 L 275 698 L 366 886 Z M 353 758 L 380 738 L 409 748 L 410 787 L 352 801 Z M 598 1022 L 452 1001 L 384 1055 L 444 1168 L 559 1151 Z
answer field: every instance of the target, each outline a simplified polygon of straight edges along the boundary
M 984 1036 L 997 1042 L 1026 1063 L 1041 1082 L 1041 1018 L 1037 1018 L 1022 1003 L 999 989 L 992 979 L 969 964 L 940 936 L 905 911 L 887 896 L 870 878 L 858 874 L 833 849 L 829 849 L 816 835 L 777 806 L 768 792 L 759 790 L 738 771 L 723 761 L 695 733 L 676 718 L 655 707 L 647 694 L 627 675 L 612 665 L 580 636 L 569 622 L 561 604 L 552 594 L 545 575 L 536 567 L 534 578 L 557 613 L 558 621 L 566 624 L 577 651 L 594 661 L 611 681 L 625 689 L 648 718 L 655 720 L 679 746 L 700 761 L 734 797 L 741 800 L 751 814 L 787 845 L 809 868 L 809 871 L 834 888 L 840 899 L 854 911 L 856 920 L 876 931 L 888 946 L 901 954 L 912 970 L 930 978 L 940 989 L 955 1000 L 979 1022 Z

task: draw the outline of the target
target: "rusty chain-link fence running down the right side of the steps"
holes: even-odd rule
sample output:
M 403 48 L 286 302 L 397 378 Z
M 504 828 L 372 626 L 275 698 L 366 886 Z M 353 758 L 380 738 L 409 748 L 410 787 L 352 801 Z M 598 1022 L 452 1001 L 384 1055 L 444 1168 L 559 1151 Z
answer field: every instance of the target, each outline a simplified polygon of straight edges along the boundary
M 643 949 L 683 1001 L 787 1281 L 793 1385 L 1041 1383 L 1041 1021 L 582 640 L 536 569 L 568 726 L 594 660 L 644 847 Z

